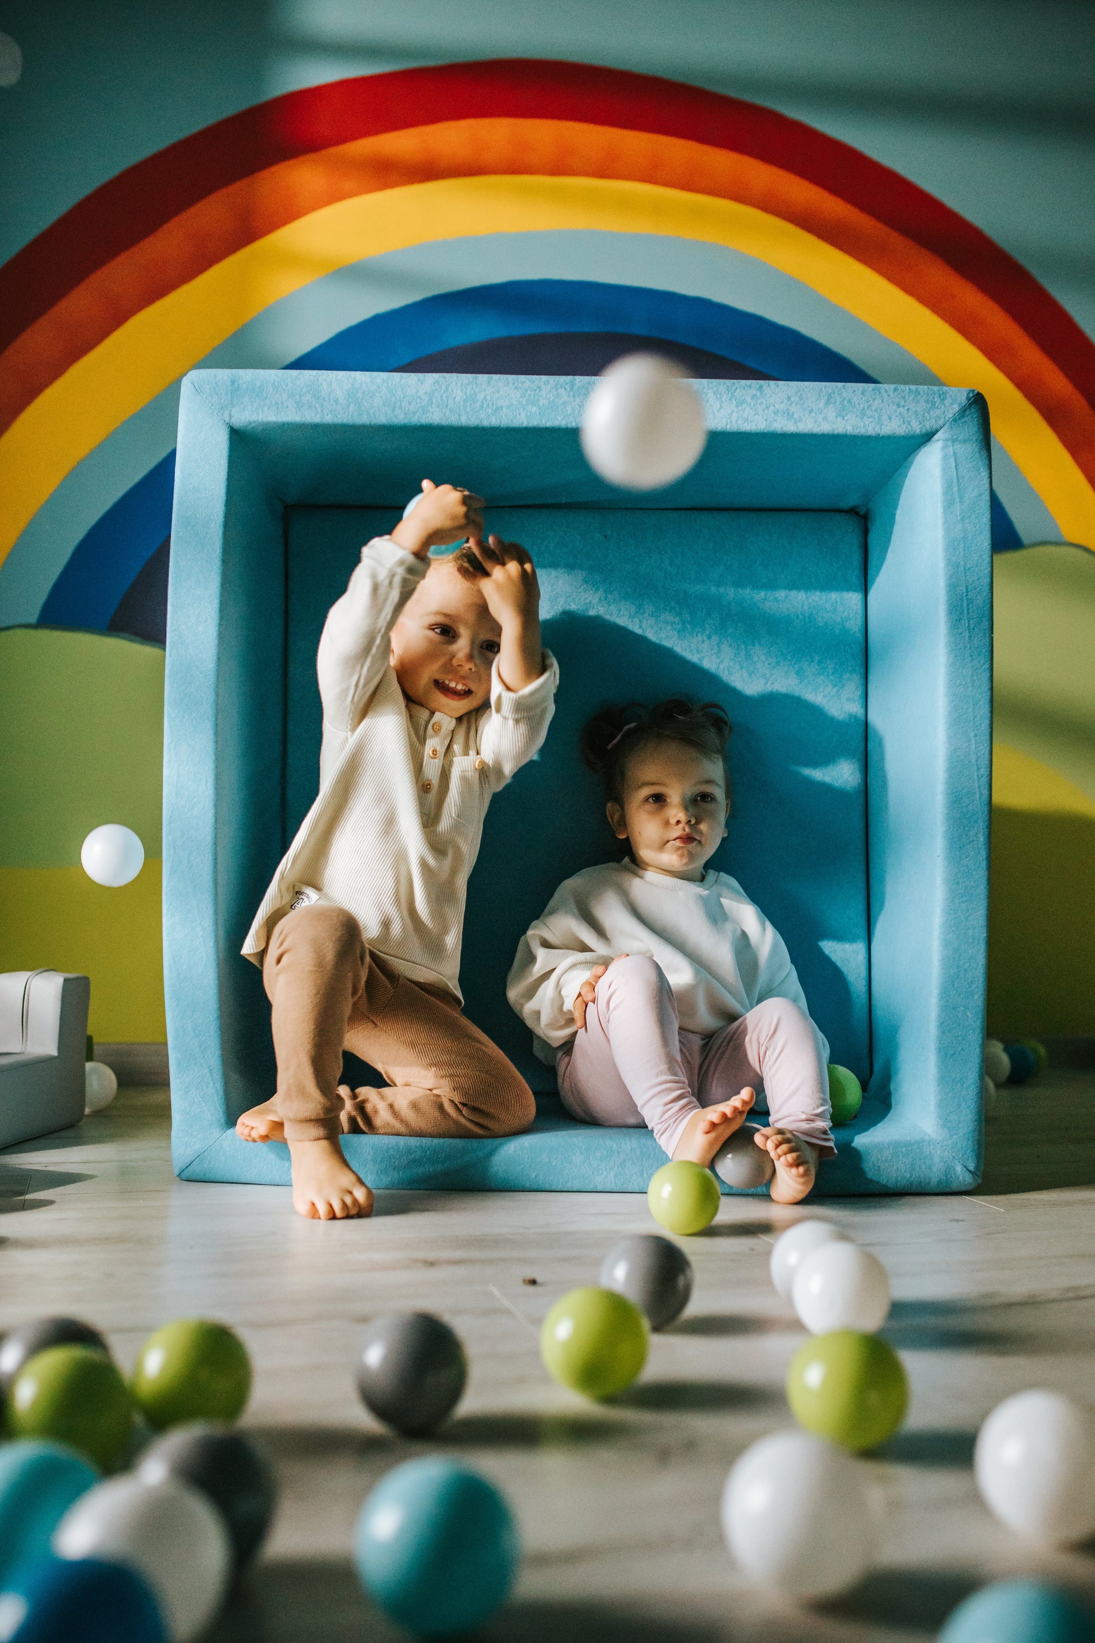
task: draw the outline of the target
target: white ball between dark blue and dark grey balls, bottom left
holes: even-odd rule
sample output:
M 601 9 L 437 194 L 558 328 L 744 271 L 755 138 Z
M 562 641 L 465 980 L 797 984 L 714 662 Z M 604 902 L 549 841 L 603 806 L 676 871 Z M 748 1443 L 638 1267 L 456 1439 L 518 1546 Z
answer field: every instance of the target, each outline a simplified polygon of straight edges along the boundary
M 199 1636 L 220 1608 L 231 1544 L 217 1508 L 190 1484 L 112 1477 L 69 1507 L 53 1535 L 57 1558 L 123 1562 L 148 1582 L 172 1643 Z

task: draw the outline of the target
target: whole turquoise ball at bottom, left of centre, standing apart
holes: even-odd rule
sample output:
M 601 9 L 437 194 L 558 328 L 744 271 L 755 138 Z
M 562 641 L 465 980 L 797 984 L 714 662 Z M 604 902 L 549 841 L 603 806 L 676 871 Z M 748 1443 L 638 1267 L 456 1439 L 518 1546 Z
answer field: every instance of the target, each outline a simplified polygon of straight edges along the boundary
M 381 1479 L 355 1531 L 361 1584 L 419 1636 L 481 1627 L 506 1602 L 520 1536 L 504 1497 L 478 1472 L 428 1456 Z

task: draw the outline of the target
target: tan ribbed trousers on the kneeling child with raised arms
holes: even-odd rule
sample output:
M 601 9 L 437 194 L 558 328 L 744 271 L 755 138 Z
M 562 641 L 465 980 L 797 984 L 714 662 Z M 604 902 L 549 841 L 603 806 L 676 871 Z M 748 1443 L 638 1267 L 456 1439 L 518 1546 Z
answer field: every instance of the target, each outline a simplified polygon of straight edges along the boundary
M 456 999 L 369 953 L 341 907 L 286 914 L 269 938 L 263 983 L 286 1140 L 360 1130 L 514 1135 L 532 1124 L 532 1091 Z M 338 1094 L 343 1048 L 376 1066 L 387 1088 Z

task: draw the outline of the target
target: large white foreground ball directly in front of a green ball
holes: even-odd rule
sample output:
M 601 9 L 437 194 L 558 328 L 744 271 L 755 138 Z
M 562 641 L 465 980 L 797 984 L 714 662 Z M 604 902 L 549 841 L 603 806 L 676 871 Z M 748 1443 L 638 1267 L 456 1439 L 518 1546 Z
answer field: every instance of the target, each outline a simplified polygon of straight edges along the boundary
M 875 1554 L 864 1464 L 809 1433 L 772 1433 L 734 1464 L 722 1535 L 754 1581 L 813 1600 L 847 1592 Z

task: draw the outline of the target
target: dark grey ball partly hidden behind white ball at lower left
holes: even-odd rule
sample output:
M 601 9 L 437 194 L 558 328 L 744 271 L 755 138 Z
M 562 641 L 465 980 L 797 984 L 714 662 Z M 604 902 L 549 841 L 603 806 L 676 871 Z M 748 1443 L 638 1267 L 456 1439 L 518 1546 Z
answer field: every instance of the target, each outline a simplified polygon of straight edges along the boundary
M 158 1438 L 136 1469 L 143 1484 L 181 1477 L 220 1512 L 236 1569 L 246 1567 L 266 1539 L 277 1505 L 277 1479 L 253 1438 L 231 1426 L 195 1421 Z

